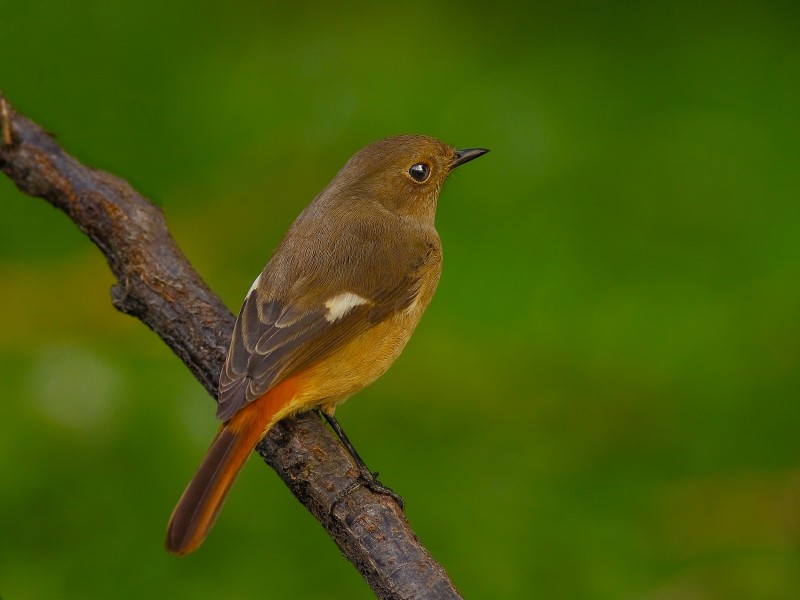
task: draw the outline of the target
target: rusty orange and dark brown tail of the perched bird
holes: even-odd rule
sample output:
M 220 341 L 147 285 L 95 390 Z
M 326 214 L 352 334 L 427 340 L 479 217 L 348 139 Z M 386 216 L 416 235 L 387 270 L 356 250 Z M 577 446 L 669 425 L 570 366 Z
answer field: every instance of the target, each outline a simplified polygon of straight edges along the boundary
M 294 397 L 284 380 L 224 423 L 167 525 L 167 550 L 183 555 L 197 550 L 208 535 L 236 476 L 250 453 Z

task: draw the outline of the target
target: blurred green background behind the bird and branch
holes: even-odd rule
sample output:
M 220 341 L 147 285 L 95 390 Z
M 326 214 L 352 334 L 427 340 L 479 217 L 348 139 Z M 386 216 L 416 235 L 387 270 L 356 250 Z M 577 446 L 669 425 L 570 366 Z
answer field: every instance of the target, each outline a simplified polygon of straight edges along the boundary
M 360 452 L 469 598 L 800 598 L 799 7 L 6 0 L 0 89 L 232 311 L 366 143 L 491 148 Z M 213 402 L 63 214 L 0 206 L 0 596 L 370 598 L 257 460 L 164 552 Z

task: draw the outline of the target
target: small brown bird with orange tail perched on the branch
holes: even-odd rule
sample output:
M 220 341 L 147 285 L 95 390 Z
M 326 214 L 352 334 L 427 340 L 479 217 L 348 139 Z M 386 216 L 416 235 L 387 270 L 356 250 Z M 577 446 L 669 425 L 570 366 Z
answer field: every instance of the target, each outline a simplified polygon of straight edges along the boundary
M 267 431 L 319 409 L 383 487 L 334 418 L 408 342 L 442 266 L 434 216 L 450 172 L 488 152 L 403 135 L 360 150 L 300 213 L 250 287 L 219 382 L 223 421 L 167 528 L 167 549 L 196 550 Z M 399 498 L 399 497 L 398 497 Z

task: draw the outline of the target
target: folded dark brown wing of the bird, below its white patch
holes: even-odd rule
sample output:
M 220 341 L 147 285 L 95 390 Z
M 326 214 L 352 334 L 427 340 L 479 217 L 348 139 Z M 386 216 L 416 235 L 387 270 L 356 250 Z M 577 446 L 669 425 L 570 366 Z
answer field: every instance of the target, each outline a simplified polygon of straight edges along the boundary
M 305 311 L 262 299 L 254 288 L 244 301 L 220 375 L 217 418 L 227 421 L 286 377 L 329 356 L 348 340 L 411 305 L 420 290 L 419 272 L 366 298 L 329 320 L 324 303 Z

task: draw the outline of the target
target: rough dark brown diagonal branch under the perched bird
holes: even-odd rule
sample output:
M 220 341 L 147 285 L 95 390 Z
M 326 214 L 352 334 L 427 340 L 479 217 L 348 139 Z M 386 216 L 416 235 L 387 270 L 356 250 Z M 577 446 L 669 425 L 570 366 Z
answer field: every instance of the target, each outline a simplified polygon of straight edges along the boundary
M 2 93 L 0 133 L 0 169 L 91 238 L 117 279 L 114 306 L 161 337 L 216 397 L 234 318 L 175 244 L 161 209 L 126 181 L 64 152 Z M 357 487 L 334 505 L 358 469 L 315 414 L 281 421 L 257 451 L 379 598 L 460 598 L 394 500 Z

